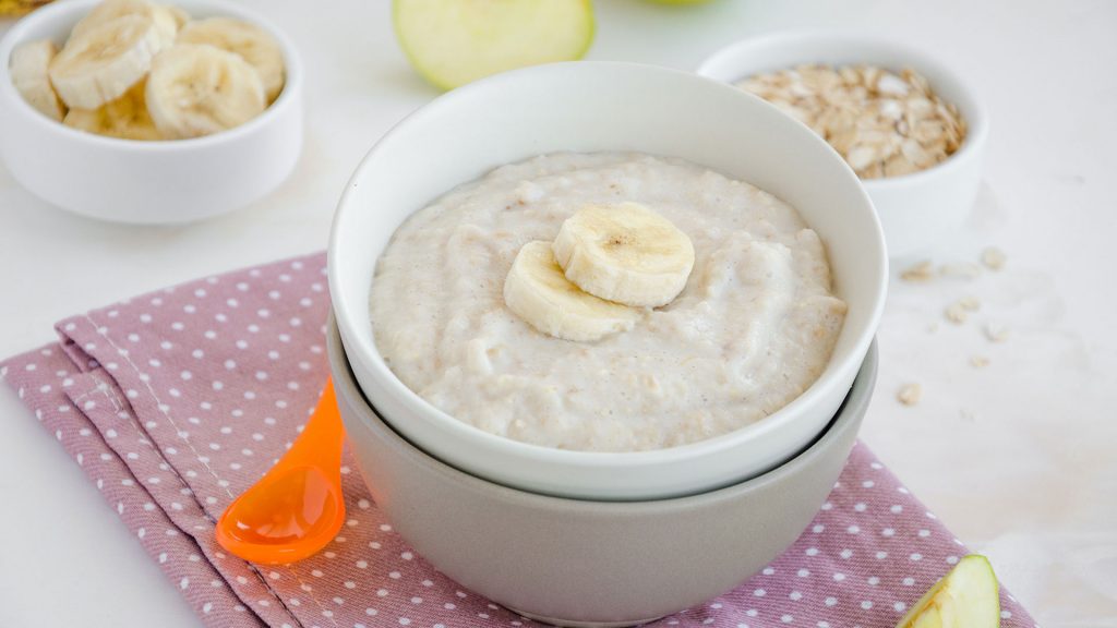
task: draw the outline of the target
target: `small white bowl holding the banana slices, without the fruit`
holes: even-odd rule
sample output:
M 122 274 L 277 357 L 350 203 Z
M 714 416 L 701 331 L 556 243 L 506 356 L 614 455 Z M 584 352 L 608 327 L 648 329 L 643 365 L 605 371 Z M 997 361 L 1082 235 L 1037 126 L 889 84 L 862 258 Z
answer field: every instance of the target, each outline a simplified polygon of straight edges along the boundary
M 303 65 L 278 28 L 230 2 L 174 1 L 193 18 L 252 22 L 279 42 L 286 84 L 275 103 L 245 124 L 206 137 L 141 142 L 77 131 L 28 105 L 8 72 L 12 49 L 37 39 L 61 46 L 98 3 L 48 4 L 16 22 L 0 41 L 0 156 L 21 185 L 75 213 L 157 225 L 245 207 L 287 178 L 303 146 Z

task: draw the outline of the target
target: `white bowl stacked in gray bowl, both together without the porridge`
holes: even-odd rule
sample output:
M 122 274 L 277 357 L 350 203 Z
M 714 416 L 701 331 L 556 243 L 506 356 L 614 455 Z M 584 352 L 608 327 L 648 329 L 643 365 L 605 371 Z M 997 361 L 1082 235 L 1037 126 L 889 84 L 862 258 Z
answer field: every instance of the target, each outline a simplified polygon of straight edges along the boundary
M 753 425 L 626 453 L 495 436 L 404 386 L 378 352 L 369 317 L 392 234 L 446 190 L 560 151 L 681 158 L 798 209 L 825 242 L 836 294 L 848 304 L 821 377 Z M 441 96 L 357 168 L 330 245 L 331 367 L 366 484 L 436 568 L 527 617 L 631 625 L 736 586 L 808 525 L 871 393 L 886 280 L 880 225 L 856 174 L 775 107 L 665 68 L 541 66 Z

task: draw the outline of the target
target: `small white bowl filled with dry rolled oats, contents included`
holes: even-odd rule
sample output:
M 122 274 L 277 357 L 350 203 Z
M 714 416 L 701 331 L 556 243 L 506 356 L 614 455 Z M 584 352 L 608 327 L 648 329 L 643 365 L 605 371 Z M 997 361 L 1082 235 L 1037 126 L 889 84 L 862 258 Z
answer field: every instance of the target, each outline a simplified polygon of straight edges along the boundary
M 852 34 L 777 32 L 723 48 L 698 74 L 825 139 L 872 199 L 890 257 L 927 253 L 965 222 L 989 120 L 965 82 L 928 54 Z

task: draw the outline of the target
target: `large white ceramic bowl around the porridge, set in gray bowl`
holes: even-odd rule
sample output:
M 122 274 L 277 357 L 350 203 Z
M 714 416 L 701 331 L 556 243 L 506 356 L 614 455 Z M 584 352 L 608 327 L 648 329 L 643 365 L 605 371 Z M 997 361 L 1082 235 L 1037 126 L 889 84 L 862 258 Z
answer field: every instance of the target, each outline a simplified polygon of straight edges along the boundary
M 829 248 L 849 303 L 822 377 L 766 419 L 653 451 L 588 453 L 481 431 L 423 401 L 373 342 L 369 293 L 380 254 L 413 211 L 490 169 L 554 151 L 640 151 L 699 163 L 794 206 Z M 760 98 L 694 74 L 580 61 L 509 72 L 446 94 L 392 129 L 353 174 L 334 218 L 330 291 L 354 374 L 411 443 L 483 478 L 550 495 L 650 499 L 727 486 L 791 458 L 830 421 L 865 359 L 885 302 L 880 225 L 825 142 Z

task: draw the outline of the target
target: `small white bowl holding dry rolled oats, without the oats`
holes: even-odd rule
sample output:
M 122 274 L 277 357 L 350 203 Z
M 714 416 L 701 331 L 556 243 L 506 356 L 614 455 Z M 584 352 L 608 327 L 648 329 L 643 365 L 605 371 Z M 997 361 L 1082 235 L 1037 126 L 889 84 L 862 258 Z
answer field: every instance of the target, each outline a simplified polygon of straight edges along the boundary
M 946 161 L 903 177 L 862 181 L 885 228 L 889 257 L 930 251 L 965 222 L 977 196 L 989 136 L 985 107 L 957 74 L 926 53 L 852 34 L 790 31 L 745 39 L 715 53 L 698 67 L 698 74 L 733 84 L 761 72 L 813 63 L 870 64 L 894 70 L 910 67 L 927 77 L 939 97 L 958 107 L 968 131 Z

